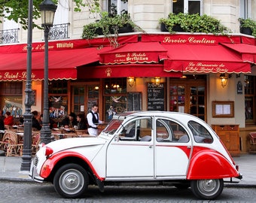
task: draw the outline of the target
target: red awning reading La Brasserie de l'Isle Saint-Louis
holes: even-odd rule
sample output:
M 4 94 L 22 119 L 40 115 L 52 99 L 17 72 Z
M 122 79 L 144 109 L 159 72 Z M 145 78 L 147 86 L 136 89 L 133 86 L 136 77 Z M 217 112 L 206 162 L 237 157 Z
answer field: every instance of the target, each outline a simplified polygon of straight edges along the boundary
M 164 71 L 197 73 L 249 73 L 251 66 L 239 53 L 221 45 L 162 44 L 168 50 Z

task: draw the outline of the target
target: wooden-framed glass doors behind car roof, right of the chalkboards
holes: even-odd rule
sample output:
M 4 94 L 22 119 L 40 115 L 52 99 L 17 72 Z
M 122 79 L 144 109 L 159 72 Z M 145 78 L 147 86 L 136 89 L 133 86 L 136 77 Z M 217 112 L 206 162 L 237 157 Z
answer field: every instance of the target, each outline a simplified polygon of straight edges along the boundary
M 206 121 L 206 75 L 170 80 L 169 111 L 192 114 Z

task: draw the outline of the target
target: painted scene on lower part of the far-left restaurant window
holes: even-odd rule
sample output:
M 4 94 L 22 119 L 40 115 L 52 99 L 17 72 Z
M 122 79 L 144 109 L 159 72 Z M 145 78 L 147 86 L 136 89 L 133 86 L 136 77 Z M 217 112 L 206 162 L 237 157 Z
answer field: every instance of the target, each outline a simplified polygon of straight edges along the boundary
M 5 114 L 7 111 L 13 117 L 23 116 L 23 97 L 22 96 L 5 96 L 1 97 L 2 111 Z

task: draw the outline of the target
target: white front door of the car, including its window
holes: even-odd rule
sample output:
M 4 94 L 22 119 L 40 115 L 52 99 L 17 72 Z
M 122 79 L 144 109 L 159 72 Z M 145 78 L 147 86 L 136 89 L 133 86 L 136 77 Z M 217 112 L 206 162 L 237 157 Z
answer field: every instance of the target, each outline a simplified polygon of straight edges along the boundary
M 106 177 L 152 178 L 154 175 L 154 139 L 152 118 L 139 117 L 123 124 L 119 139 L 107 148 Z

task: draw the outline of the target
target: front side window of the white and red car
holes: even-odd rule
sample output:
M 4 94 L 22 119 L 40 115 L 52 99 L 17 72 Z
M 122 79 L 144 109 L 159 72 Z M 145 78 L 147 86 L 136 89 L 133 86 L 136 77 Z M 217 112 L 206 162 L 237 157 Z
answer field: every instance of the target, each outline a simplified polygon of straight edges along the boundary
M 141 118 L 126 123 L 120 141 L 151 141 L 151 118 Z

